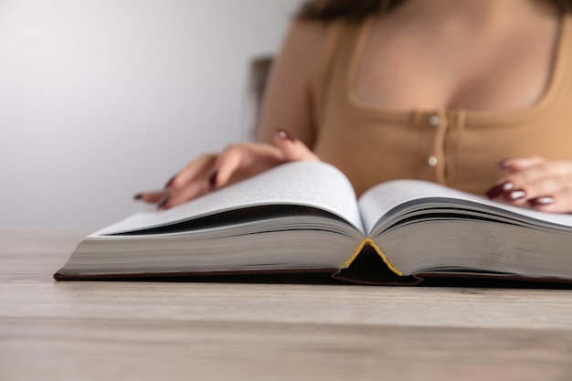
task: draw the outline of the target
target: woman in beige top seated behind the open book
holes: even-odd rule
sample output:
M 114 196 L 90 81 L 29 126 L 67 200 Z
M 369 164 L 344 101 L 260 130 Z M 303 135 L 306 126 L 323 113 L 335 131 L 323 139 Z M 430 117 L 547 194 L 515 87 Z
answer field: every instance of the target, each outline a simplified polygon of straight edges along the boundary
M 278 164 L 323 160 L 358 196 L 420 178 L 572 212 L 571 5 L 311 1 L 272 70 L 259 143 L 202 155 L 137 198 L 168 208 Z

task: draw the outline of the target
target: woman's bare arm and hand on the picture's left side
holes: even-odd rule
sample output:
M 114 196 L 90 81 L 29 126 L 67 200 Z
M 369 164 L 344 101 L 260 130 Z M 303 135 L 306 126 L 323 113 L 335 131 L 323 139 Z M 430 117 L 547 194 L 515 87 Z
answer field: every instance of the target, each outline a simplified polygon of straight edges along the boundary
M 166 209 L 279 164 L 318 160 L 307 145 L 313 142 L 310 91 L 323 29 L 321 24 L 307 22 L 291 26 L 270 73 L 260 114 L 259 143 L 230 144 L 220 153 L 203 154 L 173 176 L 164 189 L 135 198 Z

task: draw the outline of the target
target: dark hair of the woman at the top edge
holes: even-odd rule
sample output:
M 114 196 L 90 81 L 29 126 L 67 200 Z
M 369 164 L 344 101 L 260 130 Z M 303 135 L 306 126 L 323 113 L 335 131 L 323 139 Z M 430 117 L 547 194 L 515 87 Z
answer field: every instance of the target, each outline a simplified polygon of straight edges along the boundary
M 346 18 L 359 21 L 377 11 L 390 11 L 405 0 L 309 0 L 298 10 L 299 20 L 330 21 Z M 551 0 L 562 12 L 572 10 L 572 0 Z

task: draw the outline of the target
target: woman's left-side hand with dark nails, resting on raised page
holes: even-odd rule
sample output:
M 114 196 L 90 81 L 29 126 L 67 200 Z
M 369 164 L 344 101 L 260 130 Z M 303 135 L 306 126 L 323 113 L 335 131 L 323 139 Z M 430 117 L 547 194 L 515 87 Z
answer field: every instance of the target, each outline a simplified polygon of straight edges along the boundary
M 278 130 L 274 141 L 276 146 L 266 143 L 231 144 L 221 153 L 203 154 L 172 177 L 163 190 L 141 193 L 134 198 L 167 209 L 279 164 L 319 160 L 304 143 L 292 138 L 288 132 Z

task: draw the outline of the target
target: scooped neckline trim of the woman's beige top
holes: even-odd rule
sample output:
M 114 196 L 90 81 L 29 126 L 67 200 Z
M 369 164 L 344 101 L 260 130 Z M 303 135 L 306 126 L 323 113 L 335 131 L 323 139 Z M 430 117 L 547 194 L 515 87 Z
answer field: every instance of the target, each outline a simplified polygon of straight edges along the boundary
M 357 76 L 359 75 L 359 70 L 361 63 L 365 55 L 365 48 L 367 47 L 369 40 L 371 38 L 372 29 L 375 26 L 376 15 L 369 16 L 365 22 L 358 27 L 357 30 L 357 42 L 353 48 L 353 52 L 350 58 L 350 69 L 347 75 L 346 83 L 346 94 L 349 103 L 358 111 L 373 113 L 376 115 L 384 116 L 388 119 L 409 119 L 411 115 L 414 114 L 447 114 L 447 115 L 463 115 L 464 119 L 470 119 L 475 122 L 512 122 L 522 120 L 524 118 L 530 118 L 540 111 L 546 109 L 547 106 L 553 104 L 551 102 L 558 95 L 558 90 L 561 89 L 561 85 L 564 80 L 566 57 L 567 57 L 567 45 L 565 44 L 569 29 L 569 19 L 567 13 L 562 13 L 559 20 L 559 26 L 557 30 L 557 36 L 555 41 L 555 51 L 553 54 L 553 60 L 551 64 L 551 70 L 549 78 L 546 83 L 546 89 L 540 96 L 539 100 L 534 104 L 525 106 L 520 109 L 506 110 L 506 111 L 492 111 L 492 110 L 474 110 L 474 109 L 447 109 L 447 108 L 435 108 L 435 109 L 408 109 L 408 110 L 392 110 L 384 108 L 383 106 L 378 106 L 375 104 L 369 104 L 362 101 L 357 96 Z

